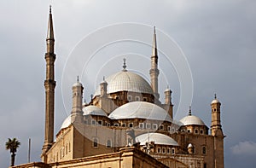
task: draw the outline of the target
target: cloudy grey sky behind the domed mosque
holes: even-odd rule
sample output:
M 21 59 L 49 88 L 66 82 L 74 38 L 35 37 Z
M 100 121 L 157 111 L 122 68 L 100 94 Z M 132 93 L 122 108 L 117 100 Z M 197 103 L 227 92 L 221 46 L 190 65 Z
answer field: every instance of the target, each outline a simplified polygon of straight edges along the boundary
M 104 32 L 106 29 L 102 27 L 124 23 L 145 26 L 148 38 L 145 38 L 144 42 L 148 43 L 152 40 L 152 35 L 147 27 L 156 26 L 159 32 L 158 40 L 160 41 L 161 32 L 168 35 L 178 44 L 189 63 L 193 79 L 192 113 L 200 116 L 210 126 L 210 102 L 213 94 L 217 93 L 219 101 L 222 102 L 222 124 L 226 135 L 225 167 L 255 167 L 256 135 L 253 123 L 256 119 L 256 2 L 253 0 L 1 1 L 1 167 L 7 167 L 10 163 L 9 152 L 4 148 L 4 143 L 9 137 L 17 137 L 21 142 L 16 157 L 17 165 L 27 162 L 28 138 L 32 138 L 31 160 L 40 159 L 44 142 L 44 53 L 49 4 L 53 6 L 57 55 L 55 133 L 70 112 L 72 100 L 68 87 L 71 87 L 70 82 L 75 81 L 78 73 L 82 76 L 85 100 L 90 99 L 90 94 L 94 93 L 102 75 L 108 76 L 121 69 L 124 56 L 129 57 L 128 69 L 129 66 L 131 70 L 138 68 L 137 72 L 149 78 L 149 62 L 148 65 L 141 66 L 132 61 L 136 55 L 144 59 L 145 55 L 150 56 L 150 47 L 142 43 L 109 45 L 103 49 L 104 52 L 97 52 L 96 56 L 103 58 L 108 55 L 108 62 L 115 62 L 114 66 L 110 66 L 112 64 L 108 62 L 102 66 L 101 59 L 96 59 L 90 61 L 83 72 L 72 72 L 67 77 L 67 67 L 73 65 L 70 62 L 75 58 L 72 55 L 76 47 L 84 42 L 84 39 L 85 43 L 90 40 L 102 42 L 116 36 L 121 33 L 119 29 L 110 35 L 104 33 L 103 36 L 96 36 L 94 32 Z M 141 30 L 137 31 L 137 35 L 142 33 Z M 168 45 L 169 43 L 159 43 L 163 50 L 168 48 Z M 170 43 L 170 48 L 171 45 Z M 86 57 L 85 49 L 86 46 L 80 57 Z M 131 49 L 132 54 L 129 54 L 128 49 Z M 111 54 L 114 59 L 109 56 Z M 87 74 L 91 68 L 95 70 L 97 67 L 99 75 L 96 78 Z M 106 67 L 108 68 L 105 70 Z M 145 72 L 142 69 L 145 69 Z M 160 63 L 160 69 L 164 76 L 162 78 L 167 78 L 161 80 L 164 81 L 161 83 L 164 86 L 161 85 L 160 90 L 164 90 L 166 84 L 170 85 L 174 110 L 177 111 L 182 89 L 179 84 L 179 72 L 174 66 L 169 68 L 168 73 L 163 61 Z M 183 113 L 187 113 L 185 111 L 183 110 Z

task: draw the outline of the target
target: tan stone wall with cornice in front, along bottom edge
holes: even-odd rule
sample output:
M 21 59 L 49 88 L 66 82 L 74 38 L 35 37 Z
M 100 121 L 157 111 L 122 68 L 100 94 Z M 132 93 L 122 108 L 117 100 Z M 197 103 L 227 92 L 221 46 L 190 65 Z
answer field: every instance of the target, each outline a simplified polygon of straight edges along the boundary
M 181 165 L 181 163 L 177 163 Z M 116 168 L 166 168 L 168 166 L 158 160 L 137 150 L 136 148 L 121 148 L 117 153 L 101 154 L 96 156 L 60 161 L 51 164 L 42 162 L 13 166 L 13 168 L 96 168 L 96 167 L 116 167 Z M 176 166 L 181 167 L 181 166 Z M 174 167 L 174 168 L 176 168 Z

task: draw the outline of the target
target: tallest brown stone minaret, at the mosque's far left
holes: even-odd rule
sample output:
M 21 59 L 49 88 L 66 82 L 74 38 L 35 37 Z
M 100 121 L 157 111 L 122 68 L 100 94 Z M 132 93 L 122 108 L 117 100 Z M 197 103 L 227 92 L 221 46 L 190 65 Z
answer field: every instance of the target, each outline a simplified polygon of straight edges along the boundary
M 53 31 L 53 21 L 51 7 L 49 6 L 49 22 L 46 38 L 47 52 L 45 53 L 46 61 L 46 78 L 44 80 L 45 89 L 45 132 L 44 146 L 42 148 L 42 161 L 46 161 L 45 153 L 51 148 L 54 140 L 54 110 L 55 110 L 55 38 Z

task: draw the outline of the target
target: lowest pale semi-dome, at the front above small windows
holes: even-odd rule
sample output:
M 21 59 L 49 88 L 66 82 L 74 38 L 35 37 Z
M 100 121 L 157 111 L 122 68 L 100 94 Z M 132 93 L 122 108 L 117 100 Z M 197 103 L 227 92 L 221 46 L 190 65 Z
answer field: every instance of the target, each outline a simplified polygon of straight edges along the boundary
M 178 146 L 177 142 L 172 139 L 170 136 L 166 136 L 160 133 L 145 133 L 136 137 L 136 142 L 140 142 L 140 145 L 145 145 L 146 142 L 154 142 L 154 144 L 159 145 L 171 145 L 171 146 Z

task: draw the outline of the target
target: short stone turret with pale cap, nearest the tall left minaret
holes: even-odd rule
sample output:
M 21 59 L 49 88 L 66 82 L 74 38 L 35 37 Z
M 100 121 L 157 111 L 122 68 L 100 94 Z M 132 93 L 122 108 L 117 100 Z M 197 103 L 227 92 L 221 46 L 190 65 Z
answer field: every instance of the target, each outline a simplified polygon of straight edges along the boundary
M 81 124 L 83 120 L 82 101 L 84 87 L 79 83 L 79 77 L 77 82 L 72 86 L 73 90 L 73 106 L 71 111 L 71 123 Z

